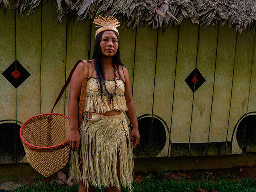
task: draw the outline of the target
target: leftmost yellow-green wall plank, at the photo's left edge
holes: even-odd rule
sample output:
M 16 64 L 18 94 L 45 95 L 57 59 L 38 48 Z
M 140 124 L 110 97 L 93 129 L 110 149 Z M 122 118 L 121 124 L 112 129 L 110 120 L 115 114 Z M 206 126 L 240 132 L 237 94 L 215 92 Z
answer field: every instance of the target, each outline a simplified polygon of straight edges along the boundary
M 12 3 L 11 1 L 10 3 Z M 15 61 L 15 14 L 0 9 L 0 164 L 16 163 L 16 89 L 2 75 Z M 7 120 L 7 121 L 6 121 Z

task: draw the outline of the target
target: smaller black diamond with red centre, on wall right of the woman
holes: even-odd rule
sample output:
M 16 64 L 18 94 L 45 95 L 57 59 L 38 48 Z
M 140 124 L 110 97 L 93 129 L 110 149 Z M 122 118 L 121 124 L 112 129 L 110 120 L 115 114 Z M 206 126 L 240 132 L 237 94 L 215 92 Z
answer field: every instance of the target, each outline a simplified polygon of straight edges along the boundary
M 202 76 L 200 71 L 195 68 L 185 79 L 185 82 L 188 84 L 192 92 L 198 90 L 198 88 L 205 82 L 205 78 Z

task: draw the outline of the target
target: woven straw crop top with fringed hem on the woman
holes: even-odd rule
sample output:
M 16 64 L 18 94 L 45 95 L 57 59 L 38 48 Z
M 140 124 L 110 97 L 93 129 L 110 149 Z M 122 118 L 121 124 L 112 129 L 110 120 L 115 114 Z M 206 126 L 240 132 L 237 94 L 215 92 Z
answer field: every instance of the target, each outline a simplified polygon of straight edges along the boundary
M 112 104 L 108 103 L 108 96 L 104 95 L 104 93 L 101 98 L 97 80 L 97 78 L 91 77 L 87 81 L 84 112 L 104 113 L 113 110 L 127 111 L 128 108 L 124 97 L 125 86 L 123 80 L 116 80 L 116 96 L 114 97 L 114 102 Z M 112 93 L 114 91 L 114 80 L 105 80 L 105 85 L 108 92 Z

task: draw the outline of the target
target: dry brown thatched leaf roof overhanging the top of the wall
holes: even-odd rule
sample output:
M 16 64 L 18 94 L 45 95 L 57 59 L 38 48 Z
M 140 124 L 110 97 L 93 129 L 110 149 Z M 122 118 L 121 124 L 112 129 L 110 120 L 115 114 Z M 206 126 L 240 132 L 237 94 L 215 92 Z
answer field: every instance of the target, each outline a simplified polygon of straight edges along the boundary
M 77 20 L 93 19 L 96 15 L 114 15 L 122 18 L 123 25 L 134 29 L 150 24 L 153 28 L 166 28 L 180 24 L 183 18 L 203 28 L 210 24 L 228 24 L 240 32 L 253 27 L 256 21 L 255 0 L 56 0 L 58 20 L 66 15 Z M 12 6 L 16 14 L 31 14 L 46 0 L 0 0 L 6 10 Z M 174 18 L 175 17 L 175 18 Z M 176 20 L 177 19 L 177 20 Z

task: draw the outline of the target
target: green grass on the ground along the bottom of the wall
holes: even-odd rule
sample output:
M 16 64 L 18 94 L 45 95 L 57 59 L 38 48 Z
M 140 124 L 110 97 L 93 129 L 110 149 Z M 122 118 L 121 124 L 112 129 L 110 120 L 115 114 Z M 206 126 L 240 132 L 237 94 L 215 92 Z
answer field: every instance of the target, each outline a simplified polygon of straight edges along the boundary
M 234 180 L 233 175 L 227 174 L 221 178 L 212 178 L 207 176 L 198 176 L 194 181 L 166 180 L 159 175 L 152 176 L 146 174 L 148 179 L 142 180 L 140 183 L 134 183 L 134 192 L 196 192 L 197 188 L 215 189 L 217 192 L 256 192 L 256 178 L 242 180 Z M 229 179 L 228 179 L 229 178 Z M 230 179 L 231 178 L 231 179 Z M 71 187 L 60 186 L 53 182 L 49 184 L 45 178 L 38 178 L 32 184 L 28 184 L 15 192 L 77 192 L 78 185 Z M 122 192 L 128 190 L 122 188 Z M 104 189 L 96 189 L 95 192 L 104 192 Z

